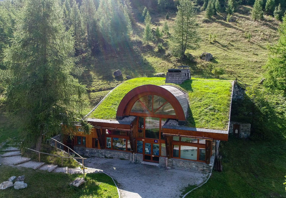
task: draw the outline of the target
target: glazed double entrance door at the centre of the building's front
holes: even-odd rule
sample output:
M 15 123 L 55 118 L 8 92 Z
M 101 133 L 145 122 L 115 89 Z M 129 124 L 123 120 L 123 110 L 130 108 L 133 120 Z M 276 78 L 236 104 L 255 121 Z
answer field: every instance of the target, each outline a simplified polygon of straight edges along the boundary
M 144 161 L 150 161 L 159 163 L 159 144 L 156 143 L 144 143 L 144 153 L 143 159 Z

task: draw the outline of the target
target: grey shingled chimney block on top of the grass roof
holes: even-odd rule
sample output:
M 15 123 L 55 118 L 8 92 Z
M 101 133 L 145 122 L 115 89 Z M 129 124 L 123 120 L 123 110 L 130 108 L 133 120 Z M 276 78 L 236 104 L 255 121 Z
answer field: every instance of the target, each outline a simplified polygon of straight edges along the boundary
M 165 83 L 182 84 L 191 78 L 189 66 L 178 66 L 178 69 L 168 69 Z

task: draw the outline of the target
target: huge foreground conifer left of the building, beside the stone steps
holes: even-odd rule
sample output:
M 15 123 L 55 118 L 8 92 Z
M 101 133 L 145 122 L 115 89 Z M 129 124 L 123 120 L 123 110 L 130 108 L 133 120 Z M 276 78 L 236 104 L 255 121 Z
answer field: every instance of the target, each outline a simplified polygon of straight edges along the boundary
M 38 151 L 42 134 L 59 133 L 61 123 L 75 132 L 73 122 L 87 107 L 85 87 L 71 75 L 74 40 L 62 18 L 57 0 L 26 0 L 4 52 L 7 107 L 19 128 L 19 143 Z M 89 133 L 89 125 L 82 125 Z

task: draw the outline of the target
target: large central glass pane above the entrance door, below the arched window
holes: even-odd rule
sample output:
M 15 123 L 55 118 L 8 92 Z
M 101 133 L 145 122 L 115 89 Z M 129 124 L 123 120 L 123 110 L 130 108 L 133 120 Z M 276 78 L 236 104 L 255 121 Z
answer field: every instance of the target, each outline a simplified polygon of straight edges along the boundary
M 160 129 L 160 118 L 150 118 L 145 119 L 145 137 L 159 139 L 159 129 Z

